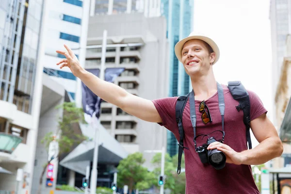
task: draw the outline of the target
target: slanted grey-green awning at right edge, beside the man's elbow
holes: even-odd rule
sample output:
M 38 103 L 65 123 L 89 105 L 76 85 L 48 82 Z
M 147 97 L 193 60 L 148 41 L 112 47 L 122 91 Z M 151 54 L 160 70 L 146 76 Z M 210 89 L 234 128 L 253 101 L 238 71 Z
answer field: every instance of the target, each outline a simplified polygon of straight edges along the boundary
M 291 143 L 291 98 L 281 124 L 279 136 L 282 142 Z

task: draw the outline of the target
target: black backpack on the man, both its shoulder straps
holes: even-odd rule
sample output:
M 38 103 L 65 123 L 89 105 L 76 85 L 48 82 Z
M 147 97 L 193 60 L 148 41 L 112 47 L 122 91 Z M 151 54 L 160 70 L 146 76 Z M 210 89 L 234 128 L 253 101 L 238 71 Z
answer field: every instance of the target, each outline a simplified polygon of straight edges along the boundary
M 238 111 L 242 110 L 243 112 L 243 123 L 246 127 L 246 140 L 248 142 L 249 149 L 252 148 L 251 135 L 250 135 L 250 98 L 249 95 L 242 85 L 241 81 L 228 81 L 227 87 L 233 97 L 233 99 L 239 102 L 239 105 L 236 106 Z M 190 92 L 191 93 L 191 92 Z M 186 96 L 178 97 L 178 101 L 176 104 L 176 121 L 179 129 L 179 149 L 178 149 L 178 170 L 177 173 L 181 172 L 181 159 L 184 148 L 189 149 L 188 147 L 184 147 L 184 129 L 182 125 L 182 116 L 185 105 L 188 101 L 190 93 Z

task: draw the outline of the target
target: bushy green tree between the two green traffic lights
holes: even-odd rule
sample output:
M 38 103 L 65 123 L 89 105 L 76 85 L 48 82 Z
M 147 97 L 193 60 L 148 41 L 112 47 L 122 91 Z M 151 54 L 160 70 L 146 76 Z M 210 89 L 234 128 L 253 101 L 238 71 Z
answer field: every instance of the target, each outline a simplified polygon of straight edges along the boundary
M 144 190 L 150 188 L 154 175 L 142 166 L 143 163 L 145 163 L 145 159 L 140 152 L 130 154 L 127 158 L 121 160 L 117 166 L 117 185 L 119 187 L 128 185 L 129 194 L 133 189 Z

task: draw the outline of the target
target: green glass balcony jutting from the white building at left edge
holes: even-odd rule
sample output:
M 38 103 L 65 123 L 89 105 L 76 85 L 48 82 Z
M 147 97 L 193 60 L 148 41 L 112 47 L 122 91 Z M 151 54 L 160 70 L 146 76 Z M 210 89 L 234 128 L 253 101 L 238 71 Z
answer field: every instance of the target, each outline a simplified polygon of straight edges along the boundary
M 0 160 L 9 159 L 21 142 L 21 137 L 0 132 Z

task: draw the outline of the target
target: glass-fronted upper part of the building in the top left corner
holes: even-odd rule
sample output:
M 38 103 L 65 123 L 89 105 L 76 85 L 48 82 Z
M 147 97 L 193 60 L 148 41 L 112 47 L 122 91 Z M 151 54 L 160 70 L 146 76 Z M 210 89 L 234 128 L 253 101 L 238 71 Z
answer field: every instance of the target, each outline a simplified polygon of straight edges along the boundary
M 0 0 L 0 100 L 31 113 L 42 0 Z

